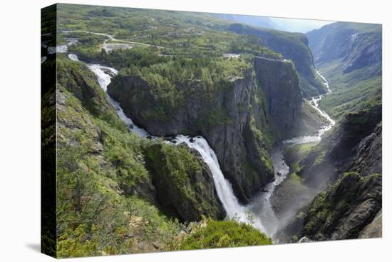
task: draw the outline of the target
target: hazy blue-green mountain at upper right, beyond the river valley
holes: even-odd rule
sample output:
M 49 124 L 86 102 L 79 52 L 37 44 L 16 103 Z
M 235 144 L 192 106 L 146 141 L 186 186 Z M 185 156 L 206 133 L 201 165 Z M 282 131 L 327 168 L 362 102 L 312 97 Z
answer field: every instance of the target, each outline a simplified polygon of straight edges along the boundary
M 321 108 L 340 119 L 371 100 L 381 103 L 381 25 L 337 22 L 306 36 L 314 64 L 333 91 L 321 101 Z

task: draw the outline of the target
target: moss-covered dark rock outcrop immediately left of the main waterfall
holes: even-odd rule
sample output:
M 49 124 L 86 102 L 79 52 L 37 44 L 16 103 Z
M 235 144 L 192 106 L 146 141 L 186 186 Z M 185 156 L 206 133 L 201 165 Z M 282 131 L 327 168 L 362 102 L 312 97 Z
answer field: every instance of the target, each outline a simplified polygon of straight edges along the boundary
M 145 148 L 145 155 L 158 202 L 169 216 L 181 221 L 225 218 L 210 168 L 195 149 L 185 143 L 177 147 L 157 143 Z

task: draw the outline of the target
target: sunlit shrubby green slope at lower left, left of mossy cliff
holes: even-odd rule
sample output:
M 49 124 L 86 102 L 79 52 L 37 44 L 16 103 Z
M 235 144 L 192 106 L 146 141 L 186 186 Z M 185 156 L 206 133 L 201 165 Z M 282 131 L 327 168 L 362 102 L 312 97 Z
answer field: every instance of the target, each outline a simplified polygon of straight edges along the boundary
M 58 125 L 58 256 L 154 251 L 153 241 L 172 241 L 177 222 L 143 201 L 150 197 L 143 191 L 130 197 L 120 190 L 125 185 L 137 191 L 138 185 L 151 183 L 140 138 L 94 118 L 61 90 L 66 108 L 58 109 L 58 121 L 66 126 Z M 135 217 L 145 226 L 132 226 Z

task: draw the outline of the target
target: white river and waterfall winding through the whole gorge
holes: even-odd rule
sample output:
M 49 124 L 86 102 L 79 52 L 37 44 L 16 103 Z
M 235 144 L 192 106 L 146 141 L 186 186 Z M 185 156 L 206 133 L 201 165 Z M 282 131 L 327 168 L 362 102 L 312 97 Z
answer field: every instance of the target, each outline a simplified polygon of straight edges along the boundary
M 66 51 L 66 50 L 61 50 Z M 68 58 L 73 61 L 79 61 L 78 56 L 76 54 L 68 54 Z M 118 74 L 116 69 L 113 69 L 108 66 L 102 66 L 100 64 L 86 64 L 88 69 L 93 71 L 96 74 L 98 83 L 100 87 L 106 91 L 108 84 L 110 84 L 112 76 Z M 328 82 L 325 82 L 326 86 Z M 329 89 L 329 86 L 327 86 Z M 285 216 L 285 219 L 278 219 L 274 213 L 272 208 L 272 204 L 270 202 L 270 198 L 272 193 L 274 193 L 274 189 L 278 186 L 284 179 L 287 177 L 289 173 L 289 166 L 284 162 L 283 151 L 284 148 L 289 146 L 294 146 L 299 143 L 309 143 L 311 141 L 320 141 L 321 136 L 325 133 L 325 131 L 331 129 L 334 126 L 335 122 L 324 112 L 321 111 L 318 107 L 319 100 L 322 99 L 322 96 L 315 99 L 313 98 L 311 101 L 311 106 L 313 106 L 321 116 L 324 116 L 326 119 L 330 121 L 328 126 L 324 126 L 320 129 L 320 131 L 315 136 L 300 136 L 296 138 L 291 138 L 286 141 L 281 141 L 276 143 L 271 152 L 272 163 L 274 166 L 274 174 L 275 180 L 272 183 L 267 184 L 257 196 L 254 196 L 252 201 L 247 206 L 242 206 L 237 197 L 234 195 L 232 191 L 232 186 L 227 181 L 225 176 L 222 173 L 220 168 L 220 163 L 217 160 L 217 156 L 215 152 L 212 150 L 208 142 L 202 136 L 196 136 L 191 138 L 190 136 L 185 136 L 182 134 L 178 134 L 173 137 L 170 141 L 165 141 L 166 143 L 173 143 L 178 145 L 180 143 L 186 143 L 190 148 L 195 148 L 200 155 L 202 156 L 207 166 L 210 168 L 212 172 L 212 176 L 215 183 L 215 188 L 217 190 L 217 195 L 222 202 L 222 205 L 225 208 L 227 213 L 227 218 L 234 218 L 237 221 L 249 223 L 254 228 L 259 229 L 260 231 L 267 233 L 268 236 L 274 237 L 274 233 L 277 232 L 280 226 L 284 224 L 285 221 L 289 218 L 289 215 Z M 108 101 L 113 105 L 115 110 L 117 111 L 118 116 L 125 124 L 129 126 L 131 132 L 136 133 L 141 137 L 149 137 L 155 139 L 155 136 L 150 136 L 150 134 L 140 127 L 136 126 L 132 119 L 128 118 L 125 115 L 123 109 L 121 109 L 118 101 L 115 101 L 110 96 L 108 96 Z M 294 214 L 294 211 L 288 211 L 287 213 Z

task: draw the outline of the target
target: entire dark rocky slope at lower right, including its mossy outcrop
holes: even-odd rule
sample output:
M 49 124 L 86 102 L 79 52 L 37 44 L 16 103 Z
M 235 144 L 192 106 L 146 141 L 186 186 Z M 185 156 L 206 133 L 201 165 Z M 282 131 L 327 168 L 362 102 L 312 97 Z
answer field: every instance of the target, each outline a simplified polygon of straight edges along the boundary
M 299 172 L 306 183 L 328 185 L 339 179 L 299 209 L 277 233 L 280 241 L 295 242 L 301 236 L 312 240 L 381 236 L 382 221 L 376 214 L 382 206 L 382 124 L 374 124 L 379 120 L 378 106 L 348 116 L 333 138 L 323 138 L 309 153 L 301 165 L 310 166 Z M 314 160 L 320 156 L 321 161 Z

